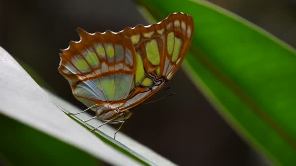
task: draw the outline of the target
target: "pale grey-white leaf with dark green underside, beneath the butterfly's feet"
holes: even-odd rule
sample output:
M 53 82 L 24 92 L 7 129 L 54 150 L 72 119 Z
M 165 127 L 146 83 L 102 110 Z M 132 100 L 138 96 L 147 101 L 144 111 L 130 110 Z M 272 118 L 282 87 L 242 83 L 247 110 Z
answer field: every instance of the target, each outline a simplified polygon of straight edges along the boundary
M 123 133 L 114 140 L 108 125 L 95 134 L 81 127 L 56 105 L 81 110 L 42 90 L 1 47 L 0 64 L 0 159 L 5 164 L 174 165 Z

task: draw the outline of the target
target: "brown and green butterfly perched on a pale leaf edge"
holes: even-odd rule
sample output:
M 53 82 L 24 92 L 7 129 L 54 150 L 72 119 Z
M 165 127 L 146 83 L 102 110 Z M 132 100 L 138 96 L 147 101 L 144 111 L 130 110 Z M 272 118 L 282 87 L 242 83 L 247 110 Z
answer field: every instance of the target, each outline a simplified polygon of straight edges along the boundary
M 105 123 L 121 124 L 135 106 L 159 91 L 177 72 L 193 35 L 193 19 L 172 13 L 148 26 L 114 33 L 87 33 L 77 28 L 78 42 L 61 50 L 59 72 L 74 97 Z M 100 125 L 100 126 L 102 126 Z M 99 126 L 99 127 L 100 127 Z M 97 127 L 98 128 L 98 127 Z M 95 128 L 95 129 L 97 129 Z

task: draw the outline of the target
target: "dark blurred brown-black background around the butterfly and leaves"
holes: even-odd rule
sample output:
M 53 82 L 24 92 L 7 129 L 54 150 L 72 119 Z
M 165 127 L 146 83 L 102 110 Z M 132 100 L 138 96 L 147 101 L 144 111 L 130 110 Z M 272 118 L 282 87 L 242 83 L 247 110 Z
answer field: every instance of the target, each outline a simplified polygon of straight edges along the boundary
M 296 48 L 296 0 L 209 1 Z M 79 40 L 77 27 L 90 33 L 118 32 L 148 24 L 132 0 L 0 0 L 0 21 L 0 46 L 35 70 L 52 92 L 81 109 L 86 107 L 57 71 L 59 49 Z M 233 131 L 182 69 L 167 86 L 153 99 L 176 95 L 134 110 L 121 132 L 178 165 L 270 164 Z

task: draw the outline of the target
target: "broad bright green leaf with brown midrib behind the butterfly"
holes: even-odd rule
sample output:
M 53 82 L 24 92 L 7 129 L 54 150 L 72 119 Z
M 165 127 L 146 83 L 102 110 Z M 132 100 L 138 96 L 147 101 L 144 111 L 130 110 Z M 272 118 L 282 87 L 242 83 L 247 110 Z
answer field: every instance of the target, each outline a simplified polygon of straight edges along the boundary
M 137 2 L 158 21 L 173 12 L 193 17 L 188 76 L 253 147 L 274 163 L 295 165 L 296 50 L 205 1 Z

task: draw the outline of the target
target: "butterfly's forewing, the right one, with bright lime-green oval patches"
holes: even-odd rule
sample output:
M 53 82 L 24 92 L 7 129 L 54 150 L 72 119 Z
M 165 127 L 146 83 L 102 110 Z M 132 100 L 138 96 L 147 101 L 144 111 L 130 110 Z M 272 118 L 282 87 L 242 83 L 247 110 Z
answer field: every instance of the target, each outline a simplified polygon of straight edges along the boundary
M 191 44 L 193 19 L 173 13 L 149 26 L 126 28 L 136 51 L 135 87 L 121 110 L 132 108 L 154 95 L 178 70 Z

